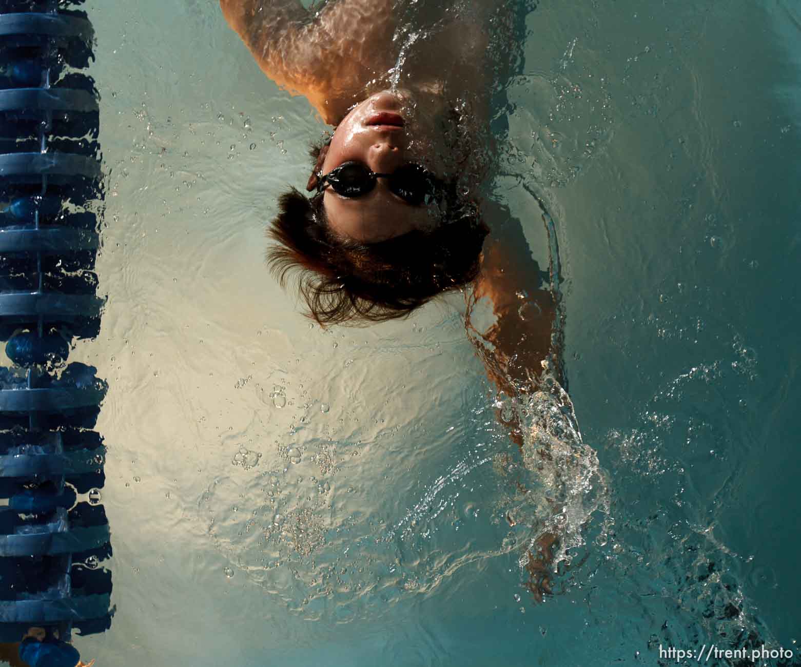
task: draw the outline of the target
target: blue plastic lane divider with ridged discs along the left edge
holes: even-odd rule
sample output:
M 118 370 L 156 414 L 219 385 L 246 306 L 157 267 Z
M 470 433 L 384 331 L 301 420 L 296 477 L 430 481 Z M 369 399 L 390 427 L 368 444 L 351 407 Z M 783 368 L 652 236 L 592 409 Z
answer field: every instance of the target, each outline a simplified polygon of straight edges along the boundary
M 99 95 L 83 0 L 0 0 L 0 641 L 74 667 L 111 624 L 111 535 L 95 432 L 107 384 L 67 363 L 99 332 Z

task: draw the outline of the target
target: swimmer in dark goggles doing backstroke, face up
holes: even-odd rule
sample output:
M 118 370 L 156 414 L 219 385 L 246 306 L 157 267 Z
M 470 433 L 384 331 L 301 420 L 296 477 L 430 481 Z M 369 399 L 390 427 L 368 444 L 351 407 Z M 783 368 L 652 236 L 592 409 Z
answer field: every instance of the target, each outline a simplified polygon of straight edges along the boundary
M 312 146 L 308 195 L 279 199 L 268 263 L 282 286 L 297 276 L 323 327 L 402 318 L 462 291 L 489 378 L 519 398 L 544 360 L 558 375 L 560 350 L 557 295 L 541 285 L 520 222 L 480 194 L 494 158 L 490 97 L 513 70 L 516 18 L 497 0 L 406 4 L 220 0 L 264 73 L 332 127 Z M 483 327 L 480 303 L 494 315 Z M 521 445 L 517 416 L 504 423 Z M 553 539 L 529 553 L 540 599 Z

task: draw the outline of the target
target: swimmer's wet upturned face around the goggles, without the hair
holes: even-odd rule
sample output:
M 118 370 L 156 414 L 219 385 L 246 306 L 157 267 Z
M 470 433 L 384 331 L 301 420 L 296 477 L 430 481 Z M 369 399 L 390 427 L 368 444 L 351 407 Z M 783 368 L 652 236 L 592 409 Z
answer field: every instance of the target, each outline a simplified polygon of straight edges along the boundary
M 392 174 L 409 163 L 423 164 L 437 174 L 436 160 L 425 159 L 421 146 L 430 143 L 431 131 L 413 118 L 408 100 L 384 91 L 356 105 L 336 128 L 321 168 L 328 174 L 346 162 L 366 165 L 376 174 Z M 323 205 L 331 231 L 362 243 L 377 243 L 431 227 L 437 219 L 434 204 L 413 206 L 392 193 L 387 179 L 377 179 L 371 191 L 355 198 L 325 187 Z

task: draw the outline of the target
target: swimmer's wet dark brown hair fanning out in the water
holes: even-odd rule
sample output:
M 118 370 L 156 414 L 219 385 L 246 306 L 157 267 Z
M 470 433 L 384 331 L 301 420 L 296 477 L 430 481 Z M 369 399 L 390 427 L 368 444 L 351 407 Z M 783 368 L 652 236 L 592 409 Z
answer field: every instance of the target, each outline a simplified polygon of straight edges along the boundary
M 322 146 L 312 147 L 317 161 Z M 441 220 L 379 243 L 341 239 L 328 227 L 322 195 L 294 187 L 280 196 L 267 253 L 281 287 L 297 274 L 309 317 L 320 325 L 359 325 L 402 318 L 446 291 L 473 282 L 489 232 L 473 203 L 446 188 Z

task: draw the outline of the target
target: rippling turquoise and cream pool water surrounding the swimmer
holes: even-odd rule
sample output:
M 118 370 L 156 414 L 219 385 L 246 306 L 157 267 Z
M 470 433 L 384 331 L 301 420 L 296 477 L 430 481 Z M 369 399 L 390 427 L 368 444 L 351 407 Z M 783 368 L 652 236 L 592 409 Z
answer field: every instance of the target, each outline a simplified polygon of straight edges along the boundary
M 587 458 L 557 472 L 591 472 L 596 495 L 541 605 L 517 565 L 529 524 L 503 520 L 541 507 L 501 473 L 525 460 L 461 297 L 310 328 L 263 258 L 276 194 L 308 176 L 312 111 L 214 2 L 86 10 L 109 303 L 76 354 L 110 383 L 116 614 L 76 639 L 85 658 L 657 665 L 660 644 L 749 633 L 798 652 L 797 3 L 541 2 L 525 18 L 493 196 L 543 266 L 533 194 L 553 215 L 568 390 L 598 460 L 567 440 Z

